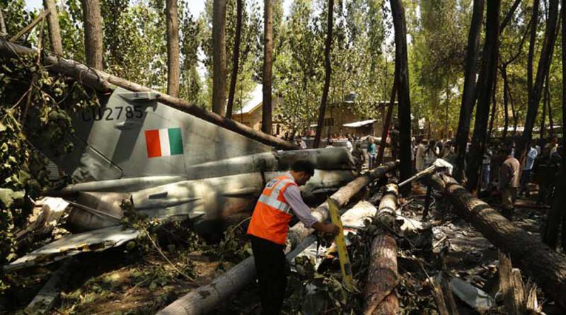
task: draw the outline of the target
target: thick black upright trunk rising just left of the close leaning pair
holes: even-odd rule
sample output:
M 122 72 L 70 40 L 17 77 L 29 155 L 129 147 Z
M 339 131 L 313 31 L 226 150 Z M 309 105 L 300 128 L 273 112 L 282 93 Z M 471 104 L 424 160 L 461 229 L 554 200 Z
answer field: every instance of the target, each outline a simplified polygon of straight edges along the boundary
M 393 27 L 395 28 L 395 81 L 398 93 L 400 181 L 412 175 L 411 164 L 411 102 L 407 60 L 407 27 L 401 0 L 390 0 Z M 403 191 L 410 190 L 410 185 Z

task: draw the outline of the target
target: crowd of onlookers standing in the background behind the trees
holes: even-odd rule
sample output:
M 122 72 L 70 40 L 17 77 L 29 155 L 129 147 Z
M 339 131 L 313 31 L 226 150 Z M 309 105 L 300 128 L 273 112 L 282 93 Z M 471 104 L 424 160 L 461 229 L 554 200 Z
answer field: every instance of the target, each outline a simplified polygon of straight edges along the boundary
M 291 140 L 288 134 L 285 139 Z M 379 138 L 377 138 L 379 139 Z M 371 136 L 357 137 L 355 134 L 330 134 L 325 139 L 325 147 L 338 146 L 347 147 L 352 153 L 357 171 L 361 172 L 364 165 L 371 170 L 376 168 L 379 141 Z M 391 142 L 391 141 L 390 141 Z M 295 143 L 301 149 L 308 146 L 304 137 L 296 137 Z M 393 149 L 391 158 L 395 158 L 395 147 L 388 142 Z M 466 153 L 470 150 L 470 142 L 466 147 Z M 512 139 L 503 142 L 493 139 L 482 156 L 480 173 L 480 193 L 491 193 L 497 191 L 501 195 L 502 212 L 510 217 L 513 213 L 513 205 L 518 196 L 529 197 L 531 183 L 538 185 L 538 197 L 536 202 L 547 204 L 553 198 L 555 177 L 559 173 L 562 157 L 558 139 L 552 137 L 550 140 L 532 140 L 526 149 L 526 155 L 522 161 L 517 159 L 516 142 Z M 412 165 L 415 172 L 423 171 L 437 159 L 444 159 L 454 164 L 456 161 L 456 143 L 451 139 L 413 139 L 412 140 Z M 466 167 L 466 166 L 465 166 Z

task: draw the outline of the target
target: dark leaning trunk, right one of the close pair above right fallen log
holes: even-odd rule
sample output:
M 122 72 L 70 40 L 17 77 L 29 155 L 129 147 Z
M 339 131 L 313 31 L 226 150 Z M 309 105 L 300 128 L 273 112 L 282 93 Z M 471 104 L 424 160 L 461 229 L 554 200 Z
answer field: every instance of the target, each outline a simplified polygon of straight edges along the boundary
M 495 74 L 497 73 L 500 5 L 501 1 L 499 0 L 487 2 L 485 45 L 483 47 L 482 69 L 478 78 L 478 108 L 475 113 L 473 138 L 468 154 L 468 169 L 466 170 L 470 191 L 475 191 L 478 188 L 482 156 L 487 140 L 490 97 L 495 86 Z

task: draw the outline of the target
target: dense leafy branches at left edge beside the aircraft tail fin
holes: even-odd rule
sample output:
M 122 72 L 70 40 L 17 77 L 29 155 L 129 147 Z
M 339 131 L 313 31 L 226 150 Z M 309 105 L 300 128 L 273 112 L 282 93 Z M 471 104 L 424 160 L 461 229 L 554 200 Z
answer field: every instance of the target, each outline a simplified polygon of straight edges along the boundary
M 50 185 L 45 157 L 32 143 L 49 143 L 54 154 L 70 151 L 69 113 L 98 104 L 94 93 L 50 74 L 36 59 L 0 64 L 0 264 L 16 258 L 14 230 L 30 214 L 31 200 Z M 1 280 L 0 287 L 6 288 Z

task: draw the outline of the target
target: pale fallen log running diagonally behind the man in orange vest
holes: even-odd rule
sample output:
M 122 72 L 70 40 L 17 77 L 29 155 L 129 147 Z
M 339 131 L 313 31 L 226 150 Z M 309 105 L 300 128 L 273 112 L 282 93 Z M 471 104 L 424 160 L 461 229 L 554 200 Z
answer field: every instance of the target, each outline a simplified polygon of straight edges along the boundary
M 390 162 L 374 169 L 374 171 L 364 174 L 363 176 L 359 176 L 354 179 L 354 181 L 351 181 L 344 187 L 340 188 L 340 190 L 330 196 L 330 198 L 336 202 L 338 207 L 341 207 L 350 200 L 350 197 L 364 188 L 365 185 L 385 176 L 386 173 L 393 171 L 397 165 L 397 162 Z M 328 218 L 328 212 L 328 203 L 323 202 L 323 204 L 318 206 L 316 210 L 313 210 L 313 215 L 315 215 L 319 221 L 323 221 Z M 299 224 L 301 224 L 302 228 L 296 228 Z M 291 244 L 294 245 L 291 245 L 291 248 L 303 247 L 305 244 L 302 242 L 306 239 L 308 234 L 310 234 L 310 232 L 308 232 L 309 230 L 311 229 L 306 229 L 302 223 L 295 224 L 294 227 L 290 229 L 289 234 L 287 234 L 289 237 L 291 235 L 291 231 L 294 231 L 294 243 L 291 242 Z M 311 239 L 306 241 L 312 243 Z M 299 251 L 290 251 L 290 253 L 287 254 L 287 259 L 289 260 L 294 258 L 294 256 L 298 253 Z M 209 314 L 214 311 L 219 304 L 225 302 L 226 299 L 231 297 L 231 295 L 242 290 L 243 287 L 248 285 L 254 279 L 255 263 L 253 261 L 253 257 L 248 257 L 223 275 L 216 277 L 216 279 L 212 280 L 212 282 L 208 285 L 198 287 L 188 294 L 185 294 L 185 296 L 168 305 L 165 309 L 159 311 L 158 315 Z

